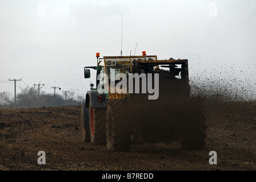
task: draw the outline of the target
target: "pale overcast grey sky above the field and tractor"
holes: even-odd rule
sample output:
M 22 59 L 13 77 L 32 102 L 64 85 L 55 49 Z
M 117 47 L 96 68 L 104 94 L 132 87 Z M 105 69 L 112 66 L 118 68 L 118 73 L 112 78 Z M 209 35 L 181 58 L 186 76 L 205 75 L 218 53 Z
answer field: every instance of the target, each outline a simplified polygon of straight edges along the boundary
M 188 59 L 191 84 L 226 84 L 256 98 L 256 1 L 0 0 L 0 92 L 33 84 L 74 90 L 95 54 Z M 122 15 L 121 15 L 122 13 Z M 245 91 L 246 90 L 246 91 Z

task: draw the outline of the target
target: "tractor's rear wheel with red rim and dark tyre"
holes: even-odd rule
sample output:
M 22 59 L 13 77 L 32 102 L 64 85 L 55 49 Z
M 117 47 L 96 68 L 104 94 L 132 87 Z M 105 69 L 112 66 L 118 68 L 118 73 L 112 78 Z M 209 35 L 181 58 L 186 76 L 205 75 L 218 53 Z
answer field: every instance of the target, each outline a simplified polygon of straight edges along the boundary
M 91 107 L 89 104 L 91 143 L 106 145 L 106 107 Z

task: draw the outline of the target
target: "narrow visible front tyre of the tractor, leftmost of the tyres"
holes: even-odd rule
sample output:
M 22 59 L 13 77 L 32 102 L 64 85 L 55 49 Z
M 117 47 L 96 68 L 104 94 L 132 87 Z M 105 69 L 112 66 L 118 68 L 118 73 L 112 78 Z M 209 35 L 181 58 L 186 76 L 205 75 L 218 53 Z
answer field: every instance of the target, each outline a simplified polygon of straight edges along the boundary
M 90 125 L 89 125 L 89 118 L 88 118 L 88 108 L 83 108 L 82 106 L 82 110 L 81 110 L 81 119 L 82 119 L 82 136 L 83 136 L 83 140 L 85 142 L 90 142 L 91 137 L 90 137 Z M 86 113 L 87 112 L 87 113 Z

